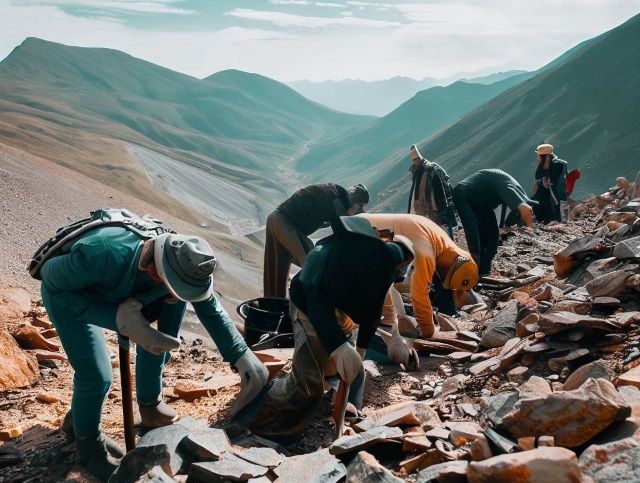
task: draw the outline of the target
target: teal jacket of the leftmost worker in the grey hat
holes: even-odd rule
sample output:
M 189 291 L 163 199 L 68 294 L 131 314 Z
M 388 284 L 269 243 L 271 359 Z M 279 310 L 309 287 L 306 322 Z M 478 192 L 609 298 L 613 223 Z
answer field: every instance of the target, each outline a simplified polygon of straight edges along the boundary
M 148 305 L 169 292 L 138 270 L 143 240 L 118 227 L 99 228 L 83 235 L 66 255 L 42 267 L 42 283 L 77 321 L 117 331 L 118 304 L 134 298 Z M 159 318 L 182 317 L 183 302 L 162 304 Z M 235 364 L 247 345 L 218 299 L 193 304 L 200 322 L 225 361 Z

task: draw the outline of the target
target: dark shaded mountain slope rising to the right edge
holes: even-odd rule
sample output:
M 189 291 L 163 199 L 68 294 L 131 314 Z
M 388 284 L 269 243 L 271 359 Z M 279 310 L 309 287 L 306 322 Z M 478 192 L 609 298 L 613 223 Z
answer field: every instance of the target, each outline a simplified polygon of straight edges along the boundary
M 577 197 L 608 187 L 611 180 L 602 176 L 603 170 L 635 177 L 640 166 L 639 46 L 636 16 L 579 44 L 531 79 L 427 138 L 419 143 L 420 150 L 447 169 L 454 185 L 478 169 L 496 167 L 529 190 L 534 151 L 543 142 L 555 146 L 570 170 L 582 171 Z M 404 209 L 408 164 L 407 153 L 401 153 L 381 165 L 372 185 L 380 208 Z

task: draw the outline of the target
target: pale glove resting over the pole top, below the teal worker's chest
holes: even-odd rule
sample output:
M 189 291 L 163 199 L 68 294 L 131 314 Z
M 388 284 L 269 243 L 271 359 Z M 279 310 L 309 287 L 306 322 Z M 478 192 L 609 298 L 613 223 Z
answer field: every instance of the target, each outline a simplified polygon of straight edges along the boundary
M 141 309 L 142 304 L 136 299 L 127 299 L 118 305 L 116 326 L 120 334 L 157 356 L 180 347 L 180 339 L 151 327 Z

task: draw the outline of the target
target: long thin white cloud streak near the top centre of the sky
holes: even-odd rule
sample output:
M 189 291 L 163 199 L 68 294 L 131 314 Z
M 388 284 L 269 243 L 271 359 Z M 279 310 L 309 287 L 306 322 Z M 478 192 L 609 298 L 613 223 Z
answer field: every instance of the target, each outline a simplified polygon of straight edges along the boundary
M 270 22 L 280 27 L 305 27 L 305 28 L 323 28 L 323 27 L 399 27 L 400 22 L 388 22 L 386 20 L 371 20 L 359 17 L 307 17 L 304 15 L 292 15 L 282 12 L 268 12 L 261 10 L 252 10 L 248 8 L 236 8 L 225 15 L 244 18 L 248 20 L 259 20 Z

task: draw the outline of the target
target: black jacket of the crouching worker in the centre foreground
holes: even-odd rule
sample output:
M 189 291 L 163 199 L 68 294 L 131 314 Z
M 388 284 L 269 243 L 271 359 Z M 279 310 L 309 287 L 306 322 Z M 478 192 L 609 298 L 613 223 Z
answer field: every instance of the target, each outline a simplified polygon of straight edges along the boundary
M 359 325 L 357 346 L 368 347 L 400 258 L 381 240 L 349 233 L 324 238 L 309 252 L 289 294 L 329 354 L 347 341 L 336 309 Z

